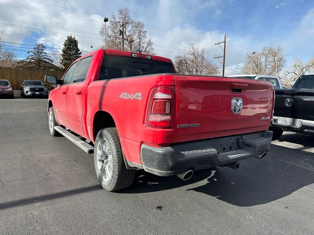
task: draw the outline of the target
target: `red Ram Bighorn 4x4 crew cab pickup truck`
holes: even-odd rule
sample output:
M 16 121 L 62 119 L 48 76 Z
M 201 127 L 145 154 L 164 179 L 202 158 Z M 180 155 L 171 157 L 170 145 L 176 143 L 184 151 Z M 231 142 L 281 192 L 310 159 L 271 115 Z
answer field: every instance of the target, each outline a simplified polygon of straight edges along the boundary
M 97 50 L 49 95 L 49 130 L 94 153 L 101 185 L 129 187 L 137 169 L 189 179 L 194 170 L 262 159 L 272 132 L 271 83 L 176 74 L 170 59 Z

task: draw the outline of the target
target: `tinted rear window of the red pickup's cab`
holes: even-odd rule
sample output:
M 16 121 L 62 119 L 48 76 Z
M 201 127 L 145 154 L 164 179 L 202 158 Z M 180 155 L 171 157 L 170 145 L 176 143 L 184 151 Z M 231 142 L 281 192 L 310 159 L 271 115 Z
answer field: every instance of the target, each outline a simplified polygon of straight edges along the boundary
M 117 55 L 105 55 L 99 80 L 156 73 L 174 73 L 171 63 Z

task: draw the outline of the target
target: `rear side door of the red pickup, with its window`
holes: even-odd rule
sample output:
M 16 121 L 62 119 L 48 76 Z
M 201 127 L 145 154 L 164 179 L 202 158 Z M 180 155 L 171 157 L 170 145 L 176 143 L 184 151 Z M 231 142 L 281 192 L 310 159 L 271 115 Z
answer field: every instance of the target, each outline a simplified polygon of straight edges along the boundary
M 68 85 L 66 95 L 67 127 L 79 135 L 84 135 L 82 113 L 84 107 L 84 87 L 87 72 L 93 56 L 80 59 L 73 76 L 73 81 Z

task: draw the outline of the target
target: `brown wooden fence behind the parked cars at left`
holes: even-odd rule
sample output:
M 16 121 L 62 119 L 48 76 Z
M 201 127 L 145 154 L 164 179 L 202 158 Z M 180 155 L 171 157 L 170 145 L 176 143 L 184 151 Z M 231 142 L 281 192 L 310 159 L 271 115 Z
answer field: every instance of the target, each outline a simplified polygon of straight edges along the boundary
M 0 67 L 0 79 L 7 79 L 10 81 L 14 90 L 20 90 L 21 83 L 24 80 L 40 80 L 45 83 L 45 75 L 56 75 L 57 79 L 61 79 L 63 71 L 55 70 L 31 70 L 23 68 L 7 68 Z M 48 90 L 51 89 L 52 84 L 47 84 Z

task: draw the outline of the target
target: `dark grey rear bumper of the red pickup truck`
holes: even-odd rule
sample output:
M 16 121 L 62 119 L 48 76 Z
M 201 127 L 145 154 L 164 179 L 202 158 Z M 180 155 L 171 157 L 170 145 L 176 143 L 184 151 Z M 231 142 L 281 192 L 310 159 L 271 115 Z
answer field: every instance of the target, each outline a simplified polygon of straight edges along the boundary
M 147 172 L 177 175 L 186 169 L 206 169 L 256 157 L 269 150 L 271 138 L 272 132 L 264 131 L 160 148 L 143 144 L 141 161 Z

